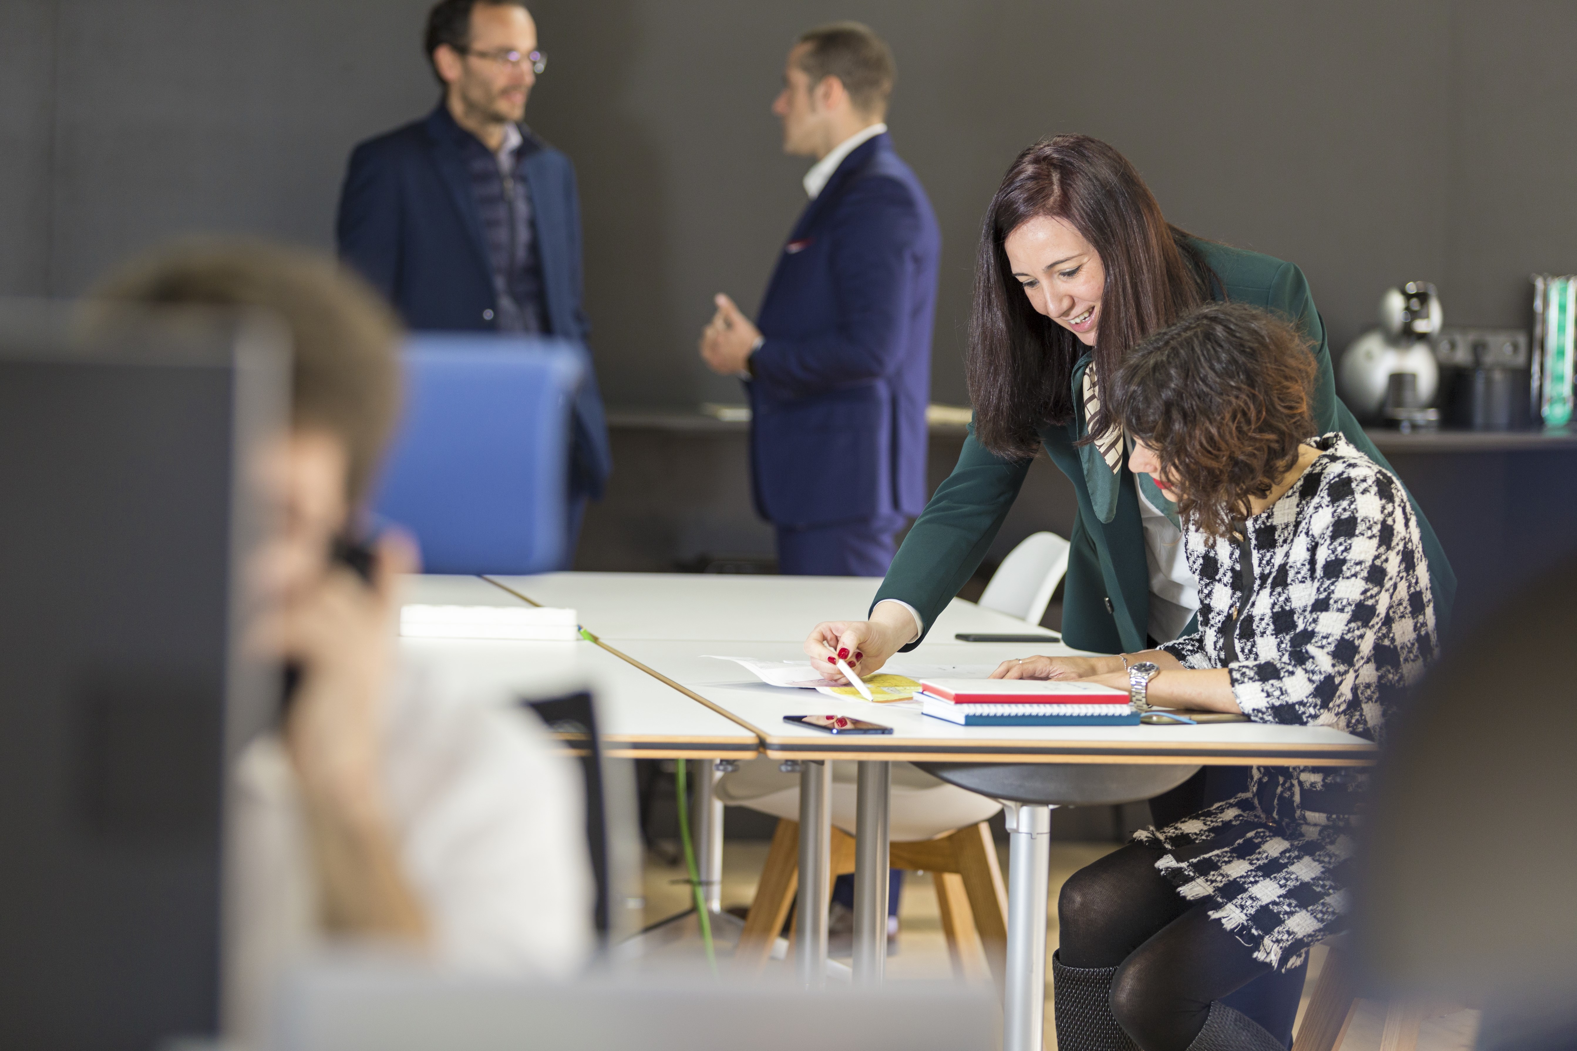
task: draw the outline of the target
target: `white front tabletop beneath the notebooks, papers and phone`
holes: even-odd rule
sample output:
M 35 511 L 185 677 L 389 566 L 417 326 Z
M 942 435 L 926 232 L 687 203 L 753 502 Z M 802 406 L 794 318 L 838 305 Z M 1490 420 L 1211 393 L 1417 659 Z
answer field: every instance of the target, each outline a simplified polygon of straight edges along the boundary
M 814 690 L 766 685 L 727 660 L 703 654 L 803 659 L 793 643 L 741 641 L 620 641 L 618 651 L 710 704 L 749 723 L 765 752 L 779 759 L 910 759 L 959 763 L 1199 763 L 1224 766 L 1355 766 L 1374 761 L 1375 747 L 1363 737 L 1326 726 L 1271 726 L 1265 723 L 1202 723 L 1199 726 L 956 726 L 919 711 L 871 704 Z M 1060 646 L 994 643 L 924 644 L 894 657 L 902 665 L 975 665 L 1028 652 L 1071 652 Z M 811 673 L 809 660 L 806 673 Z M 984 674 L 984 671 L 975 671 Z M 964 674 L 964 673 L 957 673 Z M 833 736 L 785 723 L 784 715 L 841 714 L 893 726 L 886 736 Z

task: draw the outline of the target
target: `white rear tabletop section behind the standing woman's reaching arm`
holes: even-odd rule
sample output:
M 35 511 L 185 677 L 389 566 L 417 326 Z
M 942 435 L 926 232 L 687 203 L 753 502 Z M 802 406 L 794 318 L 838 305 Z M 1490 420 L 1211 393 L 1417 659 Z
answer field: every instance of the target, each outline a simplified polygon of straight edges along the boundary
M 569 607 L 598 638 L 803 641 L 822 621 L 863 621 L 880 577 L 751 574 L 542 574 L 494 577 L 538 605 Z M 929 638 L 954 632 L 1038 632 L 1023 621 L 954 599 Z

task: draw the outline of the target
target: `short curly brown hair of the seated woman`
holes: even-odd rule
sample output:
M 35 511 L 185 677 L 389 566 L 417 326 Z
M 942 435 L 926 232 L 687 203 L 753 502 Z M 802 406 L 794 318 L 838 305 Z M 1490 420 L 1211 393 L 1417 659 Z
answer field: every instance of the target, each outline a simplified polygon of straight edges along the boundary
M 1314 436 L 1314 355 L 1290 323 L 1208 303 L 1129 351 L 1109 405 L 1178 481 L 1178 515 L 1219 537 Z

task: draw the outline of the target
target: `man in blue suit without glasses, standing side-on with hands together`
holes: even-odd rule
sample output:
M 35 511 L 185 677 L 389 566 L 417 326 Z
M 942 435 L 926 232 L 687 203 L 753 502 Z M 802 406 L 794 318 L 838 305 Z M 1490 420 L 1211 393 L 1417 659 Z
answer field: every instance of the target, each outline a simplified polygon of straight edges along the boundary
M 757 325 L 729 296 L 702 356 L 751 397 L 757 512 L 784 574 L 880 577 L 926 506 L 926 403 L 941 236 L 886 136 L 893 52 L 858 22 L 811 30 L 773 102 L 784 151 L 814 156 L 811 203 Z

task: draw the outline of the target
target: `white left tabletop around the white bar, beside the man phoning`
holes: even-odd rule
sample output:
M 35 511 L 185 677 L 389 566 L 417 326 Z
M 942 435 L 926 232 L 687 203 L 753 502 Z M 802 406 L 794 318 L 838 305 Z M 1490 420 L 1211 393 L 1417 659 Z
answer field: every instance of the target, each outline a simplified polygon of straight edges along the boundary
M 479 577 L 410 577 L 407 603 L 520 605 Z M 751 758 L 759 736 L 588 641 L 528 643 L 404 638 L 402 649 L 464 679 L 539 700 L 590 689 L 609 755 L 631 758 Z

